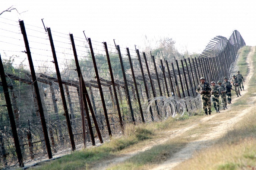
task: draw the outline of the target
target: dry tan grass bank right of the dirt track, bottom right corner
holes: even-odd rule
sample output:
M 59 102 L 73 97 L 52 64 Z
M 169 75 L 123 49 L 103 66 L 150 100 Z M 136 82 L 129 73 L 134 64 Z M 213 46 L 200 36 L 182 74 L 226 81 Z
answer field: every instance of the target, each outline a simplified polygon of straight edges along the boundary
M 256 63 L 256 53 L 253 55 L 253 62 Z M 250 98 L 255 97 L 256 93 L 255 83 L 256 75 L 250 80 L 250 92 L 243 95 L 240 101 L 233 105 L 232 110 L 236 110 L 236 114 L 250 107 Z M 256 110 L 252 109 L 243 120 L 235 125 L 233 130 L 228 131 L 215 145 L 197 153 L 192 159 L 184 161 L 175 169 L 256 169 L 255 120 Z

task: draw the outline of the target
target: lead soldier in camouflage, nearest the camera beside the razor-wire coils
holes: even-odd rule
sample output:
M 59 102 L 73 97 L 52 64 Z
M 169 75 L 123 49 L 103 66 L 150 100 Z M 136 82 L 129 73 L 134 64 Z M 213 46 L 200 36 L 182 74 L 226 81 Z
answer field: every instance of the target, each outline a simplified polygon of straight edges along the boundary
M 201 95 L 201 102 L 205 115 L 211 115 L 211 88 L 208 82 L 205 82 L 205 78 L 201 77 L 196 92 Z M 207 114 L 208 109 L 208 114 Z

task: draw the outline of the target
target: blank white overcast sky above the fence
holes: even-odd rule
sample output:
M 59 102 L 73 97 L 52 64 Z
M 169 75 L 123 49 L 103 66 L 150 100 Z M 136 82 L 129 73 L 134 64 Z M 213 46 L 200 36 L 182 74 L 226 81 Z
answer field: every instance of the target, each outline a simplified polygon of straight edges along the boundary
M 120 47 L 143 47 L 163 37 L 176 41 L 179 52 L 201 53 L 215 36 L 229 38 L 238 30 L 246 45 L 256 45 L 255 0 L 0 0 L 0 12 L 14 6 L 19 12 L 1 16 L 44 24 Z M 0 25 L 1 28 L 1 25 Z M 145 37 L 147 39 L 145 40 Z

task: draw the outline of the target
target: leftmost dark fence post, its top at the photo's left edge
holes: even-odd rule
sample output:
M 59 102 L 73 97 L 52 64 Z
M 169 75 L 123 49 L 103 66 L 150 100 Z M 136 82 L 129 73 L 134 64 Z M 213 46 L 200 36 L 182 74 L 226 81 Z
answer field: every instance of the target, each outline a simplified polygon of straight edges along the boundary
M 2 85 L 3 85 L 3 91 L 4 91 L 4 97 L 5 97 L 6 106 L 7 106 L 7 110 L 8 110 L 8 115 L 9 115 L 9 119 L 10 119 L 10 124 L 11 124 L 11 128 L 12 128 L 14 145 L 15 145 L 16 154 L 18 157 L 19 167 L 24 167 L 22 153 L 21 153 L 20 144 L 19 144 L 19 137 L 18 137 L 15 119 L 14 119 L 14 115 L 13 115 L 13 111 L 12 111 L 12 103 L 11 103 L 11 99 L 10 99 L 10 95 L 9 95 L 7 82 L 5 79 L 4 67 L 3 67 L 1 55 L 0 55 L 0 75 L 1 75 Z M 1 140 L 2 140 L 1 141 L 1 143 L 2 143 L 3 142 L 2 136 L 1 136 Z

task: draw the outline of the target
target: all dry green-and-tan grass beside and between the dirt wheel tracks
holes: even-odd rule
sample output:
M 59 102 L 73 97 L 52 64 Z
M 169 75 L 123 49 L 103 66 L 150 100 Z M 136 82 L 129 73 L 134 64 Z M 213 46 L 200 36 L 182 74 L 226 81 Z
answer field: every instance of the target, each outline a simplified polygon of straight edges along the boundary
M 241 50 L 243 53 L 248 53 L 248 47 Z M 246 56 L 246 55 L 245 55 Z M 240 58 L 241 59 L 241 58 Z M 246 75 L 246 65 L 238 61 L 240 72 Z M 256 56 L 253 58 L 256 63 Z M 256 78 L 253 77 L 251 84 L 256 83 Z M 256 92 L 256 88 L 251 87 L 250 91 Z M 112 138 L 110 142 L 104 143 L 102 146 L 87 148 L 82 151 L 75 151 L 72 154 L 61 157 L 58 160 L 44 163 L 36 169 L 90 169 L 100 161 L 109 158 L 118 157 L 121 154 L 126 154 L 131 151 L 140 150 L 142 147 L 151 145 L 152 142 L 161 141 L 166 137 L 171 137 L 172 131 L 180 130 L 181 127 L 192 127 L 186 133 L 171 138 L 165 143 L 153 146 L 150 149 L 140 152 L 131 157 L 124 163 L 111 167 L 110 169 L 149 169 L 152 165 L 161 163 L 168 157 L 181 150 L 189 142 L 196 140 L 203 134 L 208 133 L 208 130 L 216 127 L 219 121 L 227 120 L 234 117 L 238 112 L 246 108 L 249 97 L 254 97 L 252 93 L 247 93 L 239 102 L 233 104 L 233 111 L 229 110 L 227 114 L 219 114 L 211 121 L 200 122 L 202 113 L 193 114 L 185 113 L 179 118 L 168 118 L 164 122 L 153 122 L 151 124 L 126 125 L 124 135 L 120 138 Z M 236 112 L 234 112 L 236 110 Z M 256 111 L 250 115 L 256 115 Z M 255 162 L 256 148 L 253 143 L 256 142 L 256 126 L 255 117 L 248 117 L 248 120 L 243 120 L 237 125 L 235 130 L 229 131 L 227 135 L 222 137 L 217 145 L 204 150 L 203 153 L 198 153 L 188 161 L 185 161 L 177 169 L 241 169 L 253 167 Z M 236 154 L 236 151 L 238 154 Z M 228 157 L 225 157 L 228 155 Z

